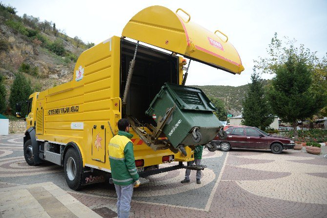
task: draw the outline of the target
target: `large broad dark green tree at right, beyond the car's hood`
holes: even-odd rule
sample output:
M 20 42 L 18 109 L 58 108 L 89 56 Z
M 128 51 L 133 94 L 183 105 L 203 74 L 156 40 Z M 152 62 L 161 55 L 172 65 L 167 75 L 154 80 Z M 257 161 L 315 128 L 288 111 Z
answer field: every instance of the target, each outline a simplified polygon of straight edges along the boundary
M 313 91 L 312 71 L 304 59 L 290 55 L 285 64 L 276 68 L 275 73 L 268 92 L 269 103 L 273 112 L 283 121 L 292 123 L 297 140 L 297 120 L 318 113 L 326 99 L 322 93 Z

